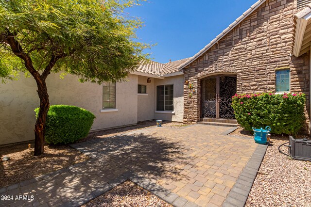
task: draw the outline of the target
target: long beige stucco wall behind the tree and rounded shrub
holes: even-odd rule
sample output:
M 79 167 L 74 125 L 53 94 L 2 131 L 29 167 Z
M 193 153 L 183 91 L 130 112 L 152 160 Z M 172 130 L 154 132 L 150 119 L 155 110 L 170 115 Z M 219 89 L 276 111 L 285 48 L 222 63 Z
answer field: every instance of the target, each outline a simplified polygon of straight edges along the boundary
M 0 144 L 34 139 L 35 112 L 39 106 L 33 78 L 0 84 Z M 129 75 L 129 81 L 117 83 L 116 112 L 100 112 L 103 107 L 103 87 L 80 83 L 75 76 L 64 80 L 58 74 L 47 79 L 50 104 L 68 104 L 82 107 L 96 115 L 92 130 L 137 123 L 138 76 Z

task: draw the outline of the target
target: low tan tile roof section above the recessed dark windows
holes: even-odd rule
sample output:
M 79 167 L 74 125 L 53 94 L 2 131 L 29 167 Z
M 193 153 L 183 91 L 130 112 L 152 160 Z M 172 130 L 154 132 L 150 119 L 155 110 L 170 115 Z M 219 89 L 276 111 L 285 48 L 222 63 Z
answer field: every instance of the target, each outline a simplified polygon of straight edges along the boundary
M 155 61 L 143 61 L 136 70 L 138 72 L 149 73 L 156 76 L 178 72 L 178 66 L 188 61 L 190 58 L 185 58 L 177 61 L 168 62 L 166 64 L 157 63 Z

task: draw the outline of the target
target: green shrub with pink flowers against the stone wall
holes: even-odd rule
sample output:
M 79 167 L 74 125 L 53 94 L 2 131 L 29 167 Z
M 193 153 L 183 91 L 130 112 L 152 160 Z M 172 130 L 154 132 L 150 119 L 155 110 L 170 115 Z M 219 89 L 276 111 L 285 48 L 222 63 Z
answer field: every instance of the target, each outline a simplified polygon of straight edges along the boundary
M 305 94 L 241 94 L 232 97 L 238 123 L 246 130 L 271 127 L 276 134 L 296 135 L 303 126 Z

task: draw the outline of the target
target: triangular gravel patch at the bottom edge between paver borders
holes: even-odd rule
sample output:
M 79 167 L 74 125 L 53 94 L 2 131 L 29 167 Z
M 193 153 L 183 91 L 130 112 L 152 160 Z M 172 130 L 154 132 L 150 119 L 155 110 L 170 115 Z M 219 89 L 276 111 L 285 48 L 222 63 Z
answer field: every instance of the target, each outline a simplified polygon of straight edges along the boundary
M 125 181 L 82 207 L 172 207 L 131 181 Z

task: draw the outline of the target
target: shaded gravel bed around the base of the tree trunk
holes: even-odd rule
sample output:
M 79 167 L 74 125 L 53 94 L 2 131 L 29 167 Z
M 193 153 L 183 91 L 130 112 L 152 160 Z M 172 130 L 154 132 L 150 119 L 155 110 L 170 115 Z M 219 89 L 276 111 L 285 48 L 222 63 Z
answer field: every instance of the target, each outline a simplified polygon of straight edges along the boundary
M 45 175 L 88 159 L 69 146 L 48 145 L 44 146 L 44 155 L 34 157 L 34 143 L 31 146 L 28 149 L 28 143 L 24 143 L 0 147 L 0 157 L 10 157 L 8 161 L 0 161 L 0 187 Z

